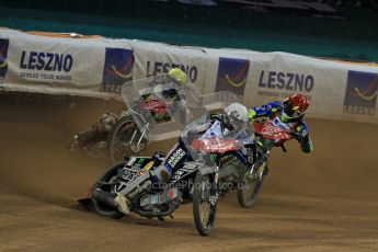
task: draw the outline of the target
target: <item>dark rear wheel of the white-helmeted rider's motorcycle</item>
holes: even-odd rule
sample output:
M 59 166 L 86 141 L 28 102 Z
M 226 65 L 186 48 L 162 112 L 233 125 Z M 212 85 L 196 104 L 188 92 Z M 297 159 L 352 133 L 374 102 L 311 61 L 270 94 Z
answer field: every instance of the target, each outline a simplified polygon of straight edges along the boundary
M 98 214 L 112 218 L 124 216 L 115 207 L 115 193 L 112 186 L 112 182 L 116 179 L 118 170 L 123 167 L 125 167 L 124 162 L 111 168 L 93 186 L 91 201 Z

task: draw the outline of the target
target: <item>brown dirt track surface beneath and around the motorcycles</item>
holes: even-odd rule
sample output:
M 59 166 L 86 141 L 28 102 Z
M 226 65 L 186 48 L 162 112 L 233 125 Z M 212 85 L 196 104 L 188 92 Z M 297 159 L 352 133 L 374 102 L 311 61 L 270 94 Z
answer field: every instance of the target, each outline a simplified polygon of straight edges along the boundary
M 309 119 L 314 152 L 273 151 L 257 204 L 228 194 L 204 238 L 191 204 L 158 221 L 76 202 L 108 165 L 71 154 L 70 137 L 121 104 L 10 94 L 0 104 L 0 251 L 378 251 L 377 125 Z

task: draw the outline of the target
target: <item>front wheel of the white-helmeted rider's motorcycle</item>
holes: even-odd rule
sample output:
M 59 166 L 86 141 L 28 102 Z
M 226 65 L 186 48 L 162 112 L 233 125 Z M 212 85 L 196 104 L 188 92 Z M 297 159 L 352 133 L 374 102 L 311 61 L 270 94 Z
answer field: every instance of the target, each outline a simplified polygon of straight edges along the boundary
M 201 236 L 208 236 L 217 214 L 217 192 L 211 188 L 214 174 L 202 175 L 197 172 L 194 180 L 193 215 Z

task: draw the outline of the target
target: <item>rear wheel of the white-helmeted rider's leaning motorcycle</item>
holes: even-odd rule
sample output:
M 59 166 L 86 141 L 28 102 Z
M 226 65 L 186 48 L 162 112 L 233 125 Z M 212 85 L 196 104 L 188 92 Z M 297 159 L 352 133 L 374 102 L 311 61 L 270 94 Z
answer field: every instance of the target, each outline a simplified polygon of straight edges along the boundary
M 118 170 L 122 169 L 123 167 L 125 167 L 125 162 L 118 163 L 114 165 L 113 168 L 111 168 L 110 170 L 107 170 L 105 174 L 101 176 L 100 180 L 92 187 L 91 201 L 92 201 L 93 207 L 95 211 L 102 216 L 106 216 L 106 217 L 111 217 L 115 219 L 118 219 L 124 216 L 124 214 L 118 211 L 118 209 L 111 207 L 106 205 L 105 203 L 101 202 L 100 199 L 93 197 L 93 192 L 95 190 L 101 190 L 104 193 L 114 194 L 113 188 L 111 186 L 101 185 L 101 182 L 105 182 L 105 183 L 111 182 L 111 180 L 117 175 Z M 115 194 L 114 194 L 114 197 L 115 197 Z

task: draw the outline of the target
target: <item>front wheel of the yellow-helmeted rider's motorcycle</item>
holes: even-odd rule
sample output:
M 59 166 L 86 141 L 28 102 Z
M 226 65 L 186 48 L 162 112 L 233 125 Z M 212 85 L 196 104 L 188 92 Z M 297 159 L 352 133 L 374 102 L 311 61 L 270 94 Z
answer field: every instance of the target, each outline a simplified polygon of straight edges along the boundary
M 138 154 L 146 147 L 146 139 L 140 139 L 137 124 L 130 116 L 121 118 L 113 127 L 107 138 L 107 150 L 112 163 L 122 162 L 125 157 Z

